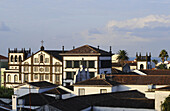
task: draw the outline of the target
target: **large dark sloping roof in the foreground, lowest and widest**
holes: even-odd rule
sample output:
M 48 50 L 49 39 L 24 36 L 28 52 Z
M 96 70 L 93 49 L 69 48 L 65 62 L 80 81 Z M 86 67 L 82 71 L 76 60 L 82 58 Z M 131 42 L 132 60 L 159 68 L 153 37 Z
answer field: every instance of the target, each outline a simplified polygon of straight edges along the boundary
M 149 100 L 143 93 L 132 90 L 76 96 L 49 105 L 62 111 L 80 111 L 90 106 L 154 109 L 154 100 Z

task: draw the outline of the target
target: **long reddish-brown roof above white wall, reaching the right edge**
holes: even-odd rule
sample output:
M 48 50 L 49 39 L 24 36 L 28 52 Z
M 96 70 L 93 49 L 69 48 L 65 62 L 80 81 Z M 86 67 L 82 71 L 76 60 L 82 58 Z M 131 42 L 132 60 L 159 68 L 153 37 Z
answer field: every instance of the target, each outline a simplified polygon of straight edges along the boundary
M 125 85 L 170 85 L 170 76 L 166 75 L 107 75 L 107 81 Z M 113 82 L 113 83 L 112 83 Z

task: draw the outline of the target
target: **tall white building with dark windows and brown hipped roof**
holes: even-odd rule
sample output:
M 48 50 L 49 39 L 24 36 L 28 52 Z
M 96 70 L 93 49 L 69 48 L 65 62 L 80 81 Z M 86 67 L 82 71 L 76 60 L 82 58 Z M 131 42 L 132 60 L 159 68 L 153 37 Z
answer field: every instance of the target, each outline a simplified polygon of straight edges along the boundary
M 97 74 L 111 73 L 111 48 L 107 52 L 99 47 L 84 45 L 60 55 L 63 56 L 63 85 L 74 83 L 80 65 L 88 70 L 91 78 Z

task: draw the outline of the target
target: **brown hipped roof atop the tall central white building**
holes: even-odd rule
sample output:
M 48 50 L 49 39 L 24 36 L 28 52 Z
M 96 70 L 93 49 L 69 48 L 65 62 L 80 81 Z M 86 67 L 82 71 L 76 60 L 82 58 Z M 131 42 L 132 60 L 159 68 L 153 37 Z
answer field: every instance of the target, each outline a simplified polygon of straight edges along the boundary
M 101 55 L 111 55 L 110 52 L 92 47 L 90 45 L 84 45 L 76 49 L 70 50 L 64 54 L 101 54 Z

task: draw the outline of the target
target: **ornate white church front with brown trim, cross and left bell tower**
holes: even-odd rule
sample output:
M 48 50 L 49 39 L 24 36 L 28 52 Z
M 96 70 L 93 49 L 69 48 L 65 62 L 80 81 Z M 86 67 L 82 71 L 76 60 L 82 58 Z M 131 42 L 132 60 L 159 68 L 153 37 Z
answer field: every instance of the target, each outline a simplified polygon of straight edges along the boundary
M 25 82 L 48 81 L 62 84 L 61 51 L 41 49 L 31 55 L 29 50 L 9 49 L 9 70 L 5 71 L 4 85 L 15 87 Z

